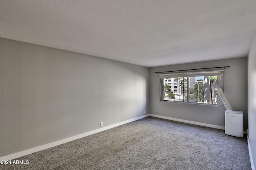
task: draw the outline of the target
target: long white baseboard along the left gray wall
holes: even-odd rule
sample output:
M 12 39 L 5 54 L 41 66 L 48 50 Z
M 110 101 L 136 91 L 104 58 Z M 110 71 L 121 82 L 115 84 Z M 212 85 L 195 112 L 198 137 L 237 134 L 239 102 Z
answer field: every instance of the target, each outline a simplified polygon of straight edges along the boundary
M 42 146 L 39 146 L 39 147 L 35 147 L 35 148 L 32 148 L 32 149 L 28 149 L 28 150 L 24 150 L 24 151 L 21 151 L 21 152 L 17 152 L 17 153 L 14 153 L 14 154 L 10 154 L 10 155 L 7 155 L 7 156 L 3 156 L 0 158 L 0 161 L 1 160 L 12 160 L 12 159 L 16 159 L 16 158 L 19 158 L 21 156 L 25 156 L 25 155 L 28 155 L 28 154 L 32 154 L 34 152 L 38 152 L 40 150 L 44 150 L 44 149 L 48 149 L 48 148 L 51 148 L 51 147 L 55 147 L 57 145 L 61 145 L 63 143 L 67 143 L 67 142 L 70 142 L 70 141 L 74 141 L 76 139 L 79 139 L 79 138 L 82 138 L 82 137 L 86 137 L 86 136 L 89 136 L 89 135 L 92 135 L 92 134 L 95 134 L 95 133 L 98 133 L 98 132 L 102 132 L 102 131 L 105 131 L 105 130 L 108 130 L 108 129 L 111 129 L 113 127 L 117 127 L 117 126 L 120 126 L 120 125 L 124 125 L 126 123 L 130 123 L 132 121 L 136 121 L 136 120 L 139 120 L 139 119 L 142 119 L 144 117 L 148 117 L 149 115 L 143 115 L 143 116 L 140 116 L 140 117 L 136 117 L 136 118 L 133 118 L 133 119 L 129 119 L 129 120 L 126 120 L 126 121 L 122 121 L 120 123 L 116 123 L 116 124 L 113 124 L 113 125 L 109 125 L 109 126 L 106 126 L 106 127 L 102 127 L 100 129 L 96 129 L 96 130 L 93 130 L 93 131 L 90 131 L 90 132 L 86 132 L 86 133 L 82 133 L 80 135 L 76 135 L 76 136 L 73 136 L 73 137 L 69 137 L 69 138 L 66 138 L 66 139 L 62 139 L 60 141 L 56 141 L 56 142 L 52 142 L 52 143 L 48 143 L 46 145 L 42 145 Z

